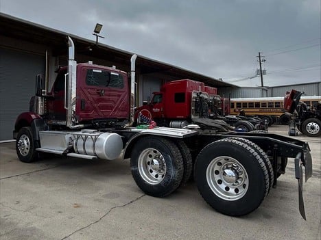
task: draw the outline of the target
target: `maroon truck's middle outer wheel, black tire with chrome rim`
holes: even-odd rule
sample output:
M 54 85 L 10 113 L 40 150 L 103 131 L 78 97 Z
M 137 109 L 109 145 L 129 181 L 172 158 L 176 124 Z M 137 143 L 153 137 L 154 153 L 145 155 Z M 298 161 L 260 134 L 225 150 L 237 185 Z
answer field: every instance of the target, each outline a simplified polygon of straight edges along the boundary
M 184 172 L 178 146 L 169 139 L 154 136 L 143 137 L 134 145 L 130 167 L 139 188 L 159 198 L 180 186 Z

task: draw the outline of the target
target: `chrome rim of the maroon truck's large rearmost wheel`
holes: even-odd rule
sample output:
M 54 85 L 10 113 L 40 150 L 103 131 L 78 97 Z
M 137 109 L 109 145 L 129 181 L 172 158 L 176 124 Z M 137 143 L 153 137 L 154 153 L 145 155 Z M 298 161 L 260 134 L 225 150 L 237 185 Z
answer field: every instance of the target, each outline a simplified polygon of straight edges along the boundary
M 239 200 L 248 191 L 248 173 L 233 157 L 213 159 L 206 169 L 206 181 L 216 196 L 228 201 Z

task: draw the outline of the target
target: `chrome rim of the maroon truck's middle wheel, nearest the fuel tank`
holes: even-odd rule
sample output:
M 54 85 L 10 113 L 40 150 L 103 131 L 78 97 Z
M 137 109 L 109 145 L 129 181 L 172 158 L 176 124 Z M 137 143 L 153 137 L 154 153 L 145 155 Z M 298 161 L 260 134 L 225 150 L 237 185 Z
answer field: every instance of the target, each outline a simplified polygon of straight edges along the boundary
M 147 148 L 141 152 L 138 167 L 139 174 L 150 185 L 163 181 L 167 170 L 163 155 L 154 148 Z

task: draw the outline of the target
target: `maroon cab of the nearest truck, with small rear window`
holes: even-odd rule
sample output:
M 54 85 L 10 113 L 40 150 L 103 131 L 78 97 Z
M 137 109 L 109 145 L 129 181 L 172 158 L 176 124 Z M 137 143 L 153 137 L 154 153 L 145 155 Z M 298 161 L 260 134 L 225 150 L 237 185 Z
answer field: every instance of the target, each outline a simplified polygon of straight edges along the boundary
M 69 68 L 59 68 L 56 81 L 47 94 L 34 96 L 43 98 L 43 118 L 51 125 L 66 125 Z M 128 120 L 130 104 L 126 72 L 91 62 L 76 65 L 75 105 L 73 118 L 80 124 L 108 126 Z M 43 84 L 40 84 L 43 85 Z M 69 88 L 67 88 L 69 89 Z M 37 91 L 41 92 L 41 91 Z M 34 101 L 31 101 L 34 104 Z M 31 106 L 32 108 L 32 106 Z

